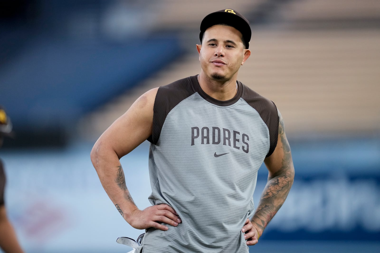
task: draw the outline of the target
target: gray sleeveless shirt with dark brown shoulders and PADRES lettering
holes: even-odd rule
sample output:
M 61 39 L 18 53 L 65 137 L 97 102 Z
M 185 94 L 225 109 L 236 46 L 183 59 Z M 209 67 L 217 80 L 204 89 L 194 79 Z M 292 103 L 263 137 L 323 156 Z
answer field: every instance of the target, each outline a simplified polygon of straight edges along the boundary
M 196 75 L 158 88 L 149 174 L 150 203 L 182 220 L 149 228 L 142 252 L 249 252 L 241 232 L 253 215 L 257 171 L 277 145 L 274 103 L 241 82 L 228 101 L 208 96 Z

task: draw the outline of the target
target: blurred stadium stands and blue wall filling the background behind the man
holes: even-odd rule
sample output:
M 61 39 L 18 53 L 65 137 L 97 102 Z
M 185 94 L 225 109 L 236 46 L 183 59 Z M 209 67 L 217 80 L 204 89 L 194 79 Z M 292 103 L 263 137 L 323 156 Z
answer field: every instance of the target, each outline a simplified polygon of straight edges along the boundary
M 0 105 L 16 138 L 0 157 L 27 252 L 128 251 L 114 240 L 141 231 L 114 210 L 90 149 L 142 93 L 199 73 L 199 24 L 225 8 L 251 23 L 238 80 L 281 111 L 296 169 L 250 249 L 380 251 L 378 0 L 14 0 L 0 3 Z M 147 149 L 122 159 L 141 208 Z M 256 204 L 266 176 L 263 167 Z

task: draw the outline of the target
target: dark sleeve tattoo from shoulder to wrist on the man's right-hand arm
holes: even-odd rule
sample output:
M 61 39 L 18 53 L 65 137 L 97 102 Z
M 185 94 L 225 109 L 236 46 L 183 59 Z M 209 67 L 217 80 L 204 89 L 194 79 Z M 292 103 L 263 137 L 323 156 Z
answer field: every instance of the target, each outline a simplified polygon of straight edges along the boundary
M 293 161 L 288 140 L 285 135 L 282 116 L 279 112 L 279 137 L 282 145 L 283 157 L 279 170 L 268 177 L 268 183 L 261 195 L 258 209 L 255 212 L 254 220 L 258 228 L 263 231 L 274 215 L 279 211 L 284 203 L 294 179 Z

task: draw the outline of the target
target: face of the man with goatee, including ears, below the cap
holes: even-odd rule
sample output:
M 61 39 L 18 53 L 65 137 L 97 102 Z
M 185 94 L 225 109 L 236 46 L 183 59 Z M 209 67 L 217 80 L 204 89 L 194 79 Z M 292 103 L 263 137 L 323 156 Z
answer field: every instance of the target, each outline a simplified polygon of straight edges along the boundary
M 226 25 L 208 28 L 197 48 L 202 70 L 212 80 L 230 80 L 250 55 L 241 32 Z

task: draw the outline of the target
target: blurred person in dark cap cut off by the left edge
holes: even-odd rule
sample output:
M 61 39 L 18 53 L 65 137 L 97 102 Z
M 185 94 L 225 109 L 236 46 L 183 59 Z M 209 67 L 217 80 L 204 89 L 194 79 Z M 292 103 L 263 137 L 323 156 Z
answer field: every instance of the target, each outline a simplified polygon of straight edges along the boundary
M 5 110 L 0 107 L 0 147 L 3 145 L 4 137 L 12 137 L 12 124 Z M 5 181 L 3 163 L 0 160 L 0 248 L 6 253 L 22 253 L 16 233 L 6 214 Z

